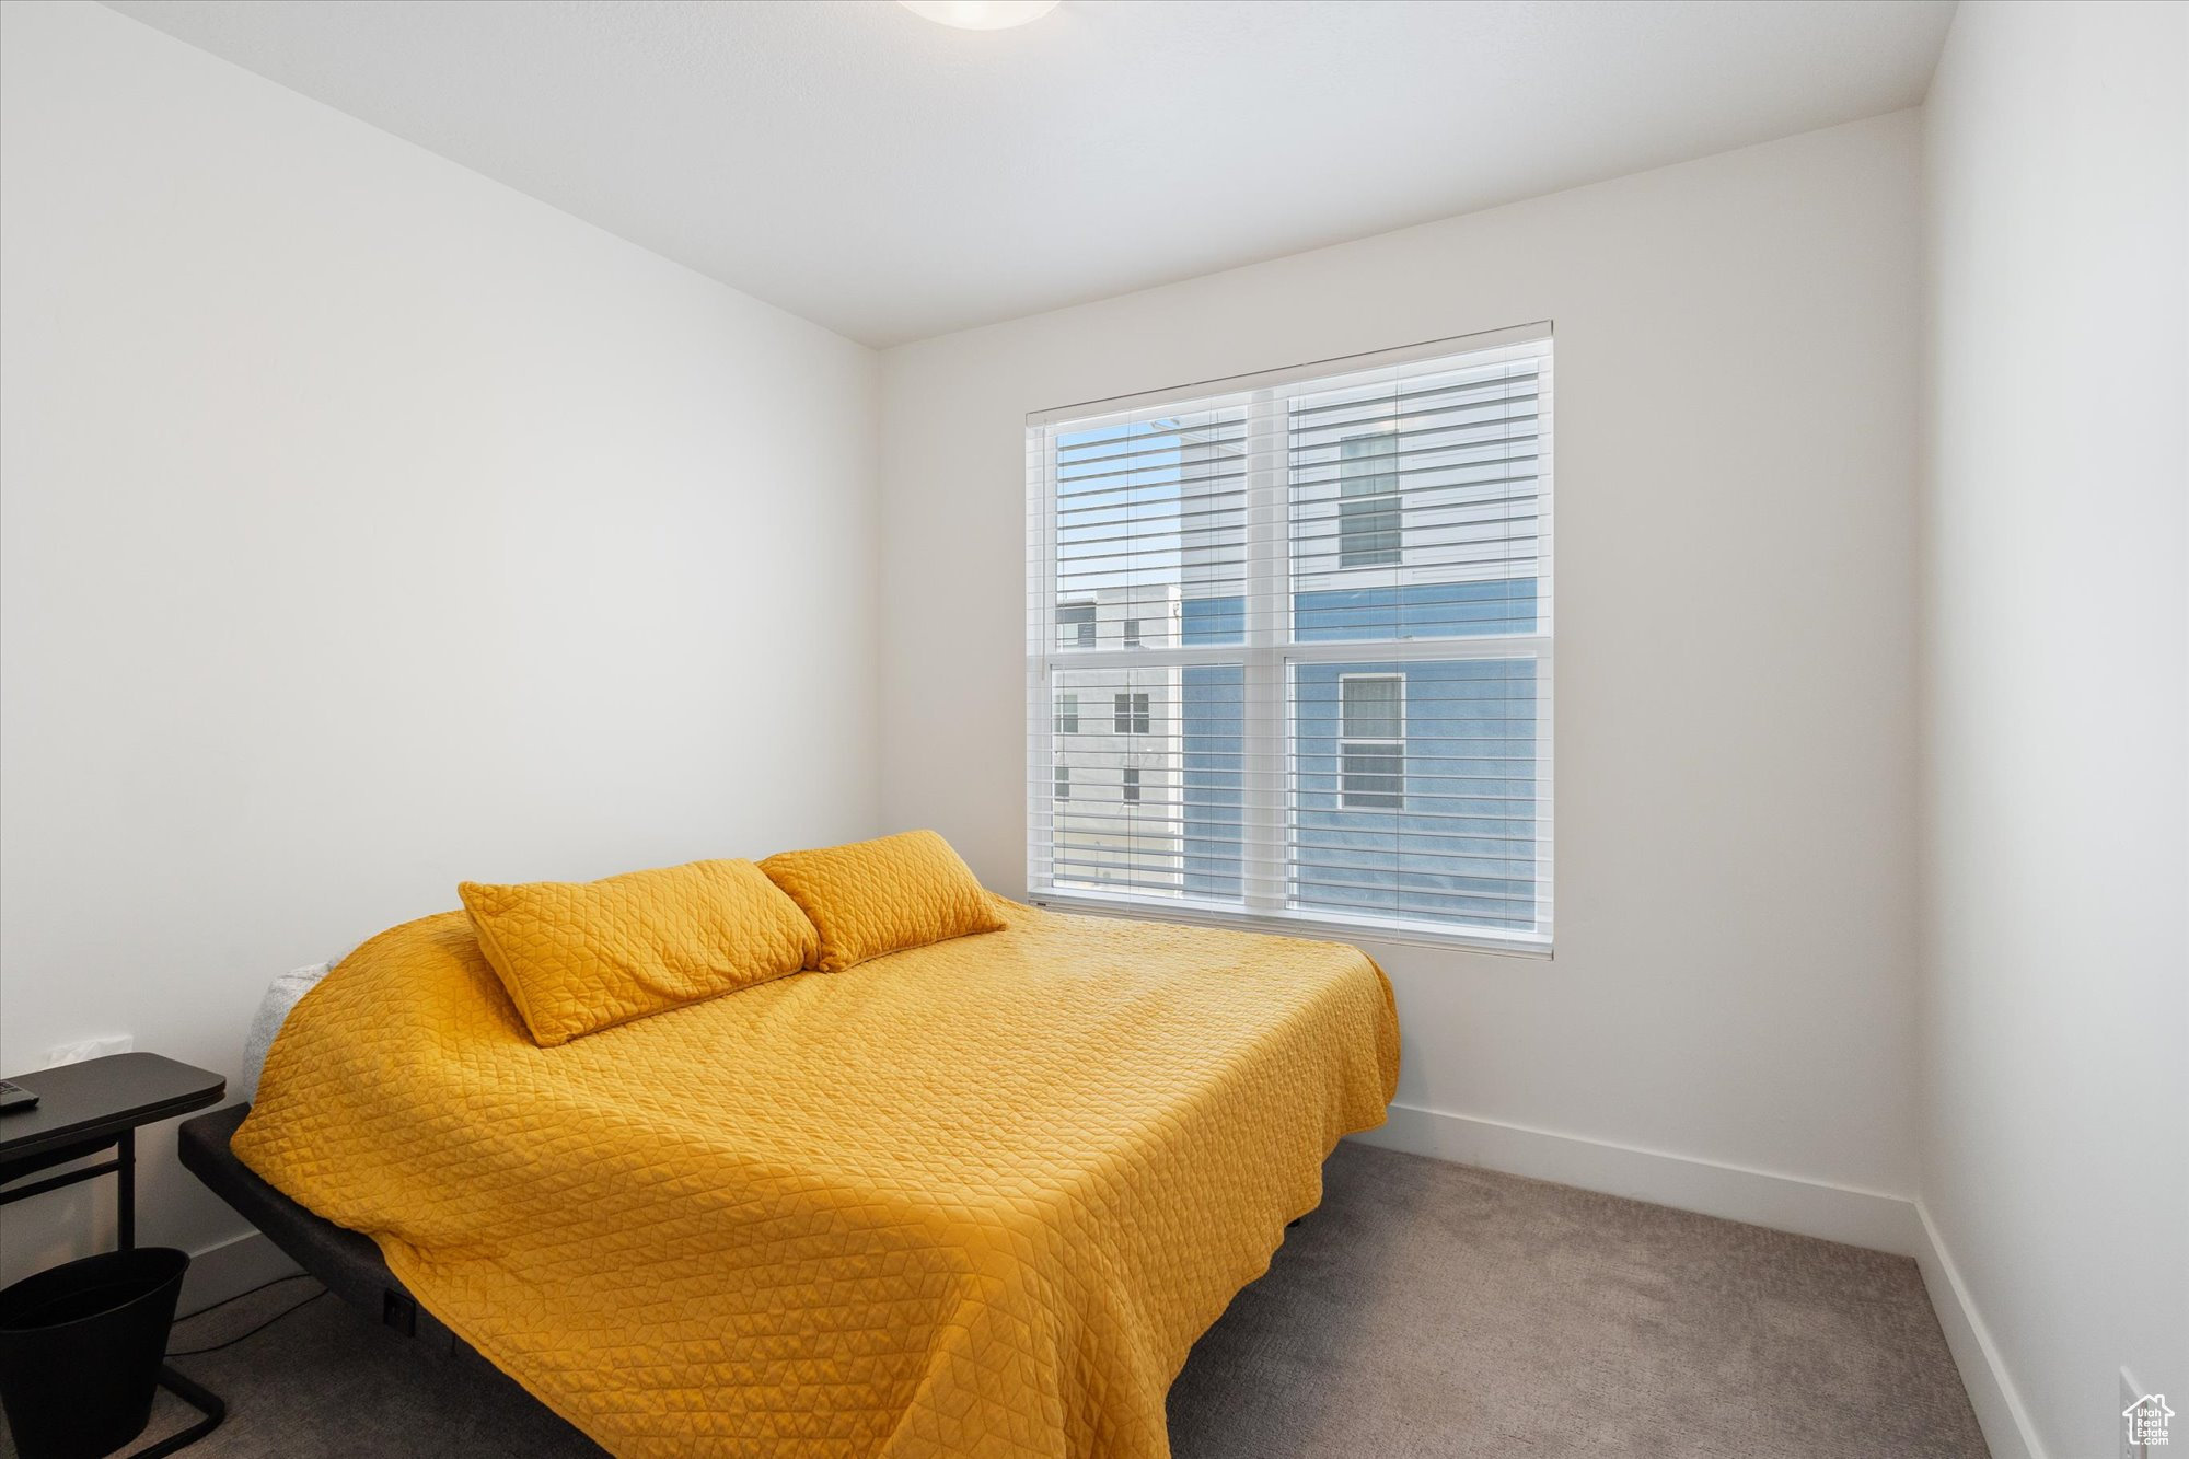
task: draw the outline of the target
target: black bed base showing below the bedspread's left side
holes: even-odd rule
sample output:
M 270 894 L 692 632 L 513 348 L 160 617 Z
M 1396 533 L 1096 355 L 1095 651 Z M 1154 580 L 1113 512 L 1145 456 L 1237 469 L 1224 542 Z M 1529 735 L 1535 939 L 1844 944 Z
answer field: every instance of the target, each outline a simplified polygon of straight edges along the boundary
M 464 1339 L 455 1336 L 440 1319 L 418 1306 L 409 1288 L 387 1271 L 387 1262 L 370 1236 L 315 1216 L 260 1181 L 250 1165 L 236 1159 L 236 1152 L 228 1148 L 228 1139 L 247 1113 L 252 1113 L 250 1104 L 230 1104 L 210 1115 L 184 1119 L 175 1133 L 175 1148 L 182 1154 L 184 1170 L 204 1181 L 215 1196 L 236 1207 L 243 1220 L 265 1231 L 267 1240 L 289 1253 L 306 1273 L 324 1282 L 326 1290 L 372 1321 L 394 1328 L 403 1336 L 418 1339 L 431 1352 L 493 1367 Z

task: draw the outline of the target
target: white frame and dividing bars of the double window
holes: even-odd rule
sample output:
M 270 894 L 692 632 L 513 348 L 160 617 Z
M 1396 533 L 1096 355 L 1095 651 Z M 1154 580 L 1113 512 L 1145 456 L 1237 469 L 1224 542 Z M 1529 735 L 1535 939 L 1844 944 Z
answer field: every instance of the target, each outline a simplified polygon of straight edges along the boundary
M 1537 469 L 1534 469 L 1534 629 L 1528 633 L 1491 631 L 1456 633 L 1451 637 L 1362 637 L 1362 640 L 1300 640 L 1294 613 L 1298 611 L 1298 581 L 1329 576 L 1329 570 L 1300 574 L 1294 561 L 1294 478 L 1287 456 L 1292 421 L 1289 401 L 1300 386 L 1342 388 L 1337 381 L 1355 372 L 1373 372 L 1416 361 L 1445 361 L 1447 357 L 1484 355 L 1489 351 L 1517 346 L 1539 357 L 1541 405 L 1537 407 Z M 1355 935 L 1373 942 L 1403 942 L 1421 946 L 1456 946 L 1482 953 L 1517 957 L 1554 957 L 1554 822 L 1556 822 L 1556 462 L 1554 462 L 1554 364 L 1552 326 L 1526 324 L 1484 335 L 1434 340 L 1399 351 L 1355 355 L 1316 361 L 1298 368 L 1263 370 L 1259 375 L 1202 381 L 1167 390 L 1149 390 L 1132 397 L 1062 405 L 1027 416 L 1027 530 L 1029 530 L 1029 699 L 1049 701 L 1049 683 L 1057 673 L 1075 670 L 1154 670 L 1154 668 L 1239 668 L 1243 673 L 1241 723 L 1248 740 L 1261 740 L 1261 749 L 1248 749 L 1243 776 L 1243 800 L 1248 806 L 1281 808 L 1281 824 L 1250 826 L 1241 839 L 1239 900 L 1211 900 L 1186 894 L 1112 892 L 1084 885 L 1049 883 L 1049 846 L 1053 828 L 1044 822 L 1042 808 L 1029 815 L 1029 900 L 1075 911 L 1114 914 L 1138 920 L 1173 920 L 1193 924 L 1243 927 L 1289 935 Z M 1055 460 L 1051 449 L 1053 432 L 1068 427 L 1084 432 L 1110 418 L 1125 421 L 1147 416 L 1167 403 L 1193 405 L 1195 412 L 1217 410 L 1217 405 L 1243 403 L 1246 445 L 1241 453 L 1263 462 L 1248 469 L 1246 493 L 1250 499 L 1281 504 L 1278 510 L 1248 510 L 1246 519 L 1246 631 L 1243 642 L 1186 644 L 1182 637 L 1167 640 L 1171 646 L 1136 648 L 1130 655 L 1119 648 L 1068 648 L 1062 640 L 1051 640 L 1051 613 L 1064 609 L 1055 600 L 1057 581 L 1057 495 Z M 1276 462 L 1274 467 L 1267 462 Z M 1344 497 L 1331 497 L 1340 502 Z M 1381 502 L 1383 493 L 1362 497 Z M 1403 499 L 1401 499 L 1403 504 Z M 1403 517 L 1401 517 L 1403 532 Z M 1335 552 L 1333 552 L 1335 556 Z M 1351 572 L 1353 581 L 1366 585 L 1403 583 L 1403 537 L 1401 561 L 1397 565 L 1364 565 Z M 1453 578 L 1453 581 L 1467 581 Z M 1451 664 L 1464 659 L 1486 662 L 1532 662 L 1534 703 L 1534 758 L 1532 758 L 1532 804 L 1534 804 L 1534 876 L 1532 894 L 1537 909 L 1534 931 L 1513 931 L 1473 922 L 1436 922 L 1427 918 L 1381 916 L 1370 909 L 1331 909 L 1287 903 L 1287 874 L 1296 865 L 1294 839 L 1300 826 L 1300 723 L 1294 712 L 1296 670 L 1305 666 L 1375 664 L 1362 670 L 1364 677 L 1401 679 L 1401 703 L 1408 694 L 1408 666 Z M 1342 690 L 1340 690 L 1342 694 Z M 1340 701 L 1342 721 L 1342 701 Z M 1337 725 L 1344 727 L 1342 723 Z M 1401 749 L 1405 714 L 1401 710 Z M 1274 749 L 1272 749 L 1274 736 Z M 1344 736 L 1331 734 L 1331 743 Z M 1035 749 L 1040 754 L 1040 749 Z M 1256 758 L 1283 769 L 1252 769 Z M 1035 767 L 1038 769 L 1038 767 Z M 1046 773 L 1046 771 L 1038 771 Z M 1342 782 L 1342 778 L 1340 778 Z M 1401 776 L 1401 795 L 1403 795 Z M 1405 815 L 1399 811 L 1366 811 L 1381 815 Z M 1250 822 L 1254 817 L 1250 815 Z M 1267 822 L 1270 817 L 1261 817 Z

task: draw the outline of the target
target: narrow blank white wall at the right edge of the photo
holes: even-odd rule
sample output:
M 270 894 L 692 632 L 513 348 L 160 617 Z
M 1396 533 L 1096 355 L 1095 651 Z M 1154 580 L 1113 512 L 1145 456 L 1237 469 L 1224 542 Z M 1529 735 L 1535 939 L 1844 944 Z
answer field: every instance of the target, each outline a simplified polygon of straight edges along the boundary
M 2189 7 L 1964 2 L 1924 125 L 1924 1205 L 2110 1455 L 2189 1411 Z

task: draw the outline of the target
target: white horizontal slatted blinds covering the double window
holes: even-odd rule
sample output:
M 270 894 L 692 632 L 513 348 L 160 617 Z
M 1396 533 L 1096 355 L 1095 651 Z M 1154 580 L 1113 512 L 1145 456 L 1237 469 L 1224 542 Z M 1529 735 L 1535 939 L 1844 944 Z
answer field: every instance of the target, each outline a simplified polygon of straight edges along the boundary
M 1038 900 L 1550 946 L 1550 364 L 1530 326 L 1029 416 Z

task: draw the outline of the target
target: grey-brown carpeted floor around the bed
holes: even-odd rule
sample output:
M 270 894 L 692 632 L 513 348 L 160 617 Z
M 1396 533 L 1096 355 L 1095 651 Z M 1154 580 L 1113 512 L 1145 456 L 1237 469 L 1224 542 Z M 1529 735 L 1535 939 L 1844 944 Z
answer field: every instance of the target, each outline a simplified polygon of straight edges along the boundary
M 1913 1262 L 1353 1144 L 1327 1185 L 1171 1389 L 1178 1459 L 1985 1452 Z M 600 1452 L 333 1297 L 177 1367 L 230 1404 L 206 1459 Z M 147 1441 L 186 1422 L 160 1402 Z

